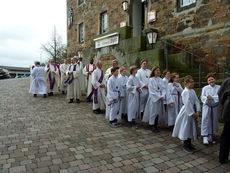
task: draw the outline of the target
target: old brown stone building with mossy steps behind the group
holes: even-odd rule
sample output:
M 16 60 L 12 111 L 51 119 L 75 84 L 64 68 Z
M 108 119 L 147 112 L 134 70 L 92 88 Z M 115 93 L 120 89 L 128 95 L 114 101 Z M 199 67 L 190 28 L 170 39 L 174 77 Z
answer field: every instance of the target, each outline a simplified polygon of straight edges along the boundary
M 198 57 L 206 70 L 229 63 L 229 0 L 127 0 L 127 9 L 123 2 L 67 0 L 68 56 L 100 59 L 104 68 L 112 59 L 125 66 L 148 59 L 149 68 L 172 70 L 187 69 Z M 149 44 L 152 29 L 157 40 Z

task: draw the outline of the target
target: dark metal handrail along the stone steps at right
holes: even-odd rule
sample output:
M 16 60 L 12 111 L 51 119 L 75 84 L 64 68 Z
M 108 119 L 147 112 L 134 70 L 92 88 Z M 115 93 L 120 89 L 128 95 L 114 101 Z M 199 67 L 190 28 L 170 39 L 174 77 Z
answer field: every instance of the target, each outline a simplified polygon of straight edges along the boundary
M 172 47 L 174 47 L 174 48 L 176 48 L 176 49 L 178 49 L 178 50 L 180 50 L 182 52 L 190 54 L 191 55 L 191 68 L 192 69 L 194 69 L 194 67 L 195 67 L 195 63 L 194 63 L 195 58 L 198 58 L 198 60 L 199 60 L 199 65 L 198 65 L 198 69 L 199 69 L 199 88 L 202 87 L 202 72 L 203 72 L 202 66 L 203 66 L 204 63 L 206 64 L 206 66 L 209 65 L 209 66 L 213 66 L 213 67 L 217 68 L 218 73 L 220 72 L 220 69 L 221 69 L 222 70 L 222 78 L 223 78 L 223 80 L 226 77 L 226 73 L 230 73 L 230 70 L 227 69 L 226 65 L 221 66 L 219 64 L 211 63 L 211 62 L 207 61 L 204 57 L 195 54 L 194 53 L 195 52 L 194 48 L 192 48 L 191 50 L 186 50 L 185 48 L 181 48 L 181 47 L 179 47 L 179 46 L 177 46 L 177 45 L 175 45 L 175 44 L 173 44 L 171 42 L 168 42 L 166 40 L 163 40 L 163 43 L 164 43 L 165 52 L 166 52 L 165 53 L 165 55 L 166 55 L 166 57 L 165 57 L 166 58 L 166 60 L 165 60 L 166 69 L 168 69 L 168 67 L 169 67 L 169 59 L 168 59 L 168 57 L 169 57 L 169 46 L 172 46 Z M 181 44 L 181 43 L 180 43 L 180 45 L 182 45 L 183 47 L 189 47 L 189 46 Z M 201 51 L 203 53 L 205 53 L 206 55 L 210 54 L 209 52 L 205 52 L 203 50 L 201 50 Z

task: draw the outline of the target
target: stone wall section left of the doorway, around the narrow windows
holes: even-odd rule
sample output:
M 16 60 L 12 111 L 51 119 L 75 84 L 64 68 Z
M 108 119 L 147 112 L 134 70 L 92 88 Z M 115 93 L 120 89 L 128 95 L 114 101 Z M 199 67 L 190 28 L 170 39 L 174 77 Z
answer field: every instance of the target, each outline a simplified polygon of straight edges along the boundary
M 100 34 L 100 14 L 107 11 L 108 31 L 120 27 L 120 22 L 125 21 L 126 13 L 122 10 L 123 0 L 85 0 L 78 5 L 78 0 L 67 0 L 67 11 L 73 9 L 73 26 L 68 29 L 68 56 L 76 55 L 78 50 L 92 46 L 92 38 Z M 79 43 L 79 24 L 84 23 L 85 41 Z

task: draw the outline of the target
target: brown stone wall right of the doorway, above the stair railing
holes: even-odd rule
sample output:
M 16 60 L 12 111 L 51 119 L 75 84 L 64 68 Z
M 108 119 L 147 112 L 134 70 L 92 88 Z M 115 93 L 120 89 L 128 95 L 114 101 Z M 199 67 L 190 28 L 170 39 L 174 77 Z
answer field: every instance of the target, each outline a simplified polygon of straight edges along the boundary
M 156 9 L 157 21 L 147 27 L 158 29 L 160 39 L 190 45 L 212 63 L 225 62 L 230 57 L 230 1 L 197 0 L 188 9 L 178 8 L 177 0 L 155 0 L 148 10 Z

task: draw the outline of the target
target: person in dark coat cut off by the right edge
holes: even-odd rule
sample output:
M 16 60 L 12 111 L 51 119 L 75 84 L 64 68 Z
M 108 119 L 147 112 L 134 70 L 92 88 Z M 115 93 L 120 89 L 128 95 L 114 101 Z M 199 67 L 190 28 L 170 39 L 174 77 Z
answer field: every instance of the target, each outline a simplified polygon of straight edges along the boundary
M 230 148 L 230 78 L 224 80 L 218 92 L 219 102 L 222 105 L 221 117 L 224 120 L 224 129 L 220 139 L 220 163 L 227 163 Z

